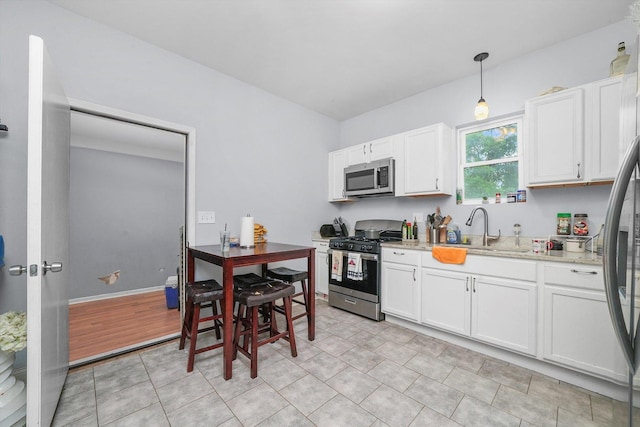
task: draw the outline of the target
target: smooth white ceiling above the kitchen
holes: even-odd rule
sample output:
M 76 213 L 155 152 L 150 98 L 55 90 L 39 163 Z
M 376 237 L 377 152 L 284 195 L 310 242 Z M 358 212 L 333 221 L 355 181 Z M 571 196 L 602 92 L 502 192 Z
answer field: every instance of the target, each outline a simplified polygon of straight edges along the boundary
M 336 120 L 477 74 L 479 52 L 489 52 L 490 70 L 619 22 L 632 3 L 49 1 Z

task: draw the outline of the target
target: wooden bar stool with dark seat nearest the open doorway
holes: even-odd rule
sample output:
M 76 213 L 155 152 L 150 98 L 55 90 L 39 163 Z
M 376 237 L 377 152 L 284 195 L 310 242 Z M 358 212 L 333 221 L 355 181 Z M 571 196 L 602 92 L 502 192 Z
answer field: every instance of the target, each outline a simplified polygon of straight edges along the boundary
M 224 305 L 220 304 L 220 314 L 218 314 L 218 303 L 224 296 L 223 288 L 215 280 L 203 280 L 199 282 L 187 283 L 187 302 L 185 306 L 184 322 L 182 323 L 182 335 L 180 336 L 180 350 L 184 349 L 185 339 L 189 338 L 189 358 L 187 361 L 187 372 L 193 371 L 193 362 L 196 354 L 222 347 L 222 342 L 207 347 L 196 349 L 199 332 L 207 332 L 215 329 L 216 338 L 220 339 L 220 327 L 222 326 L 222 310 Z M 212 315 L 200 318 L 200 309 L 211 307 Z M 200 322 L 213 321 L 213 325 L 198 329 Z

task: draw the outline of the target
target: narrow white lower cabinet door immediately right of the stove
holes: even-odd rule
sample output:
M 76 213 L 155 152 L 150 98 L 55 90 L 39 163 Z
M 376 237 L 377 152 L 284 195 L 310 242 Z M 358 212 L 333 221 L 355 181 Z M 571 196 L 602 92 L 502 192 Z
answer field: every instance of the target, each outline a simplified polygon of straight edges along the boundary
M 418 266 L 385 262 L 382 264 L 380 303 L 384 313 L 420 320 Z

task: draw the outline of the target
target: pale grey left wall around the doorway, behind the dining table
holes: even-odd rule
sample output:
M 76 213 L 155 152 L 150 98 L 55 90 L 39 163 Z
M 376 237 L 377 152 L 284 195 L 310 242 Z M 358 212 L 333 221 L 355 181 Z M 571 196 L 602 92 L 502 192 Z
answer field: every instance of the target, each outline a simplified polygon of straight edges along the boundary
M 41 0 L 0 0 L 0 234 L 5 262 L 26 264 L 28 36 L 42 37 L 69 97 L 196 129 L 196 206 L 218 243 L 250 212 L 273 241 L 310 244 L 337 212 L 326 202 L 338 123 Z M 26 279 L 0 272 L 0 312 L 26 308 Z M 24 363 L 22 353 L 16 362 Z

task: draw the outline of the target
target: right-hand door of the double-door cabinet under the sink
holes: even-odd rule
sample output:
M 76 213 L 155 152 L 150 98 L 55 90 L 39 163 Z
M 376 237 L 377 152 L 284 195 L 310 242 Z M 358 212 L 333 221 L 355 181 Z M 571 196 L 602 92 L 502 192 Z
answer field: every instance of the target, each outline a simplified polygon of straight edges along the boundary
M 535 355 L 536 284 L 484 276 L 471 281 L 471 336 Z

